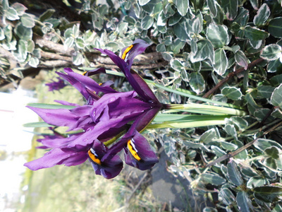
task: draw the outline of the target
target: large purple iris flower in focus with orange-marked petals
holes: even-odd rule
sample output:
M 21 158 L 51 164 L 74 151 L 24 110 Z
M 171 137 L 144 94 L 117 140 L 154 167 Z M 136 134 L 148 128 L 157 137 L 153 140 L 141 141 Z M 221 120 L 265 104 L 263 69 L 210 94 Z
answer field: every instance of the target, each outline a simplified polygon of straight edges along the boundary
M 98 49 L 123 71 L 133 91 L 118 92 L 110 87 L 111 81 L 99 85 L 89 77 L 96 73 L 105 73 L 104 68 L 88 71 L 85 75 L 68 68 L 64 69 L 66 74 L 58 73 L 80 91 L 87 100 L 86 105 L 57 100 L 56 102 L 72 105 L 74 108 L 30 109 L 48 124 L 68 126 L 68 131 L 81 132 L 66 138 L 43 139 L 42 145 L 51 150 L 42 158 L 25 163 L 25 166 L 31 170 L 59 164 L 71 166 L 84 163 L 88 158 L 97 175 L 111 179 L 123 168 L 123 161 L 118 156 L 121 150 L 124 150 L 125 163 L 128 165 L 140 170 L 154 166 L 158 162 L 157 155 L 140 132 L 152 122 L 163 105 L 142 77 L 131 69 L 133 59 L 148 46 L 143 40 L 135 40 L 133 45 L 123 49 L 122 57 L 109 50 Z

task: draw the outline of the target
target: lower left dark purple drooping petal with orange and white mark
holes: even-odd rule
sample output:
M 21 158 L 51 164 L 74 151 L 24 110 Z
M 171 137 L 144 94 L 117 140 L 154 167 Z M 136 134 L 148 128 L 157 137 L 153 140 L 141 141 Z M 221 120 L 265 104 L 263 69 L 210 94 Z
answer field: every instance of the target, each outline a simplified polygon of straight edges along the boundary
M 114 157 L 109 160 L 100 160 L 103 158 L 106 151 L 106 146 L 96 140 L 90 151 L 88 151 L 88 156 L 96 175 L 102 175 L 106 179 L 111 179 L 121 172 L 123 169 L 123 161 L 118 155 L 114 155 Z

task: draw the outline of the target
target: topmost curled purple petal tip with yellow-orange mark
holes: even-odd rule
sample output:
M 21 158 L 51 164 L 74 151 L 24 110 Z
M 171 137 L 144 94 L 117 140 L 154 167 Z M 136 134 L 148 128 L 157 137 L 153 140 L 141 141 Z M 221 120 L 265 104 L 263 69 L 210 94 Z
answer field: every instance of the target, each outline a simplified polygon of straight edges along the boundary
M 133 64 L 133 59 L 138 54 L 142 54 L 145 51 L 145 49 L 147 49 L 147 47 L 149 47 L 149 44 L 147 42 L 141 39 L 137 39 L 133 42 L 133 45 L 130 45 L 129 47 L 125 47 L 121 50 L 122 52 L 121 58 L 128 63 L 129 67 L 131 67 Z

